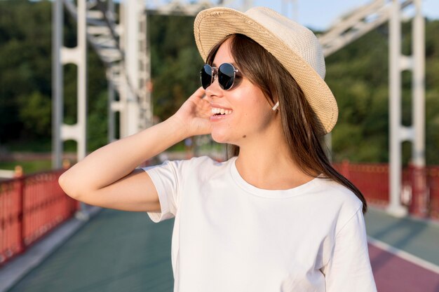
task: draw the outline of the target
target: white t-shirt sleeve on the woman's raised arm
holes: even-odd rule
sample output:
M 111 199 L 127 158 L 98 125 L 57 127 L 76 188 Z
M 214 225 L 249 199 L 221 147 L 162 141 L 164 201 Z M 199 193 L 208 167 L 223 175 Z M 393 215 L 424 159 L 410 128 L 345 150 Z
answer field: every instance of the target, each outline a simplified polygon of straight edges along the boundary
M 154 222 L 175 217 L 180 199 L 182 183 L 182 165 L 184 160 L 165 161 L 161 165 L 143 167 L 156 187 L 161 211 L 149 211 L 147 214 Z

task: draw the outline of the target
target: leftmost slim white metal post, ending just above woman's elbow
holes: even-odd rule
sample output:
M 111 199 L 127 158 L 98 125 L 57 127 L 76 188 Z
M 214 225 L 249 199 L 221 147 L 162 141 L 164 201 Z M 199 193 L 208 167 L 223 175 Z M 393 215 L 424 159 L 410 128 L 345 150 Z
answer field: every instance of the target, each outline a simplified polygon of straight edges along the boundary
M 61 168 L 62 164 L 63 71 L 60 52 L 63 23 L 62 0 L 54 0 L 52 2 L 52 167 L 54 169 Z

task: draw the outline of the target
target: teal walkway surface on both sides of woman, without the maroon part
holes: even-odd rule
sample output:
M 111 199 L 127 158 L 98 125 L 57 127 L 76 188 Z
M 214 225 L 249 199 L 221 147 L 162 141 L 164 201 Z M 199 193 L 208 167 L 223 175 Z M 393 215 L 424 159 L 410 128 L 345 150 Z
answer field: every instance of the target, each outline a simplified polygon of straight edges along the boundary
M 439 265 L 439 224 L 365 215 L 367 234 Z M 173 220 L 102 209 L 10 292 L 172 292 Z

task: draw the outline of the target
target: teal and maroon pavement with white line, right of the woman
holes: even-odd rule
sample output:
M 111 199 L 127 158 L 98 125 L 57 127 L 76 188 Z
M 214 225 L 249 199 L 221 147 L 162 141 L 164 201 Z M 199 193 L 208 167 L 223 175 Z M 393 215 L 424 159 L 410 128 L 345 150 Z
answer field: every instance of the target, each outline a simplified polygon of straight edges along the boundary
M 365 215 L 369 256 L 379 292 L 439 292 L 439 223 Z

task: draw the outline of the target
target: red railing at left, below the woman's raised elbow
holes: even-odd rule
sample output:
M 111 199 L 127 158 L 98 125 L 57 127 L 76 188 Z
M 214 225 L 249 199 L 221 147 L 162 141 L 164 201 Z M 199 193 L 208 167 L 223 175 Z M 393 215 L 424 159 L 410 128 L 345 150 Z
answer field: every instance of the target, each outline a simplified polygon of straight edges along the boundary
M 79 202 L 58 184 L 64 170 L 0 182 L 0 265 L 71 218 Z

